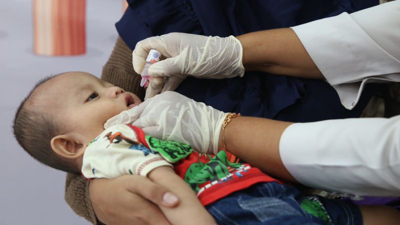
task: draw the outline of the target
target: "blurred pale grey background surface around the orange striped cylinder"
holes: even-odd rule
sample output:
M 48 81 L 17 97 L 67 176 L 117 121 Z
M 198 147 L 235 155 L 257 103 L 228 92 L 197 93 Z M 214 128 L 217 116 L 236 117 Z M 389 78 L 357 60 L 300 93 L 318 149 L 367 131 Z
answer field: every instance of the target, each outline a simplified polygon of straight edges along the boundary
M 122 16 L 122 0 L 87 0 L 87 53 L 75 57 L 32 54 L 32 1 L 0 0 L 0 225 L 87 225 L 64 201 L 65 173 L 44 167 L 16 143 L 14 112 L 44 76 L 83 70 L 100 76 Z

